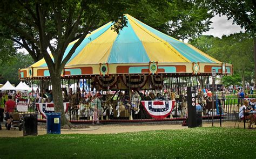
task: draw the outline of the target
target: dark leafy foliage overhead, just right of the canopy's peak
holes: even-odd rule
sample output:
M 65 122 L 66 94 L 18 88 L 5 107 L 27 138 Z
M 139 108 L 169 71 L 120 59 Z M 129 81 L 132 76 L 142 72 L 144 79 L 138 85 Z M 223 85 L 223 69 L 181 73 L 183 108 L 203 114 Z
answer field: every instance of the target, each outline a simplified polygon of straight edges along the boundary
M 206 6 L 178 0 L 158 6 L 146 0 L 138 1 L 127 13 L 177 39 L 194 38 L 208 31 L 213 17 Z

